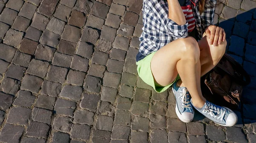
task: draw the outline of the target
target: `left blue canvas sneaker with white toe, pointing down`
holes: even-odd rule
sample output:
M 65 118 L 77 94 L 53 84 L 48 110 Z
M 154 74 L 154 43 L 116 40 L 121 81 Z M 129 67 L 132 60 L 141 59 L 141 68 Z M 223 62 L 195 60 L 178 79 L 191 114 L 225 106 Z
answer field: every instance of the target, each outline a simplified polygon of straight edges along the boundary
M 189 123 L 194 118 L 194 109 L 190 103 L 190 95 L 186 87 L 178 87 L 177 82 L 172 86 L 172 91 L 176 98 L 176 107 L 175 111 L 178 118 L 185 122 Z

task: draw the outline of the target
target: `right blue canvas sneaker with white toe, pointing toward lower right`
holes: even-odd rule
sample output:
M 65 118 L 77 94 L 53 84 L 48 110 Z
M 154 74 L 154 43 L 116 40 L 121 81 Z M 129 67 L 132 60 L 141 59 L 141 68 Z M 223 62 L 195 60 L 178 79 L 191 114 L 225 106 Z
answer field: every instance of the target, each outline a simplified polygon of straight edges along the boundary
M 195 109 L 197 108 L 195 107 Z M 227 107 L 212 104 L 209 101 L 206 101 L 204 107 L 197 110 L 205 117 L 222 126 L 234 126 L 238 120 L 236 114 L 232 110 Z

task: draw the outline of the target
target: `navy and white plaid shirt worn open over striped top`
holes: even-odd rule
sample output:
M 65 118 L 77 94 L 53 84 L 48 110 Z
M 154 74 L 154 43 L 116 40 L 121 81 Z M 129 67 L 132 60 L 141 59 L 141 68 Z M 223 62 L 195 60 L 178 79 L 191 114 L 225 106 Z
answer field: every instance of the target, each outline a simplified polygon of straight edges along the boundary
M 207 8 L 200 15 L 198 0 L 193 5 L 193 15 L 195 17 L 195 30 L 197 39 L 202 35 L 209 25 L 213 23 L 214 6 L 216 0 L 206 0 Z M 190 0 L 187 0 L 191 4 Z M 168 3 L 163 0 L 143 0 L 143 33 L 140 36 L 140 50 L 136 61 L 140 61 L 150 53 L 159 50 L 166 44 L 179 38 L 188 36 L 188 22 L 185 25 L 178 25 L 168 17 Z

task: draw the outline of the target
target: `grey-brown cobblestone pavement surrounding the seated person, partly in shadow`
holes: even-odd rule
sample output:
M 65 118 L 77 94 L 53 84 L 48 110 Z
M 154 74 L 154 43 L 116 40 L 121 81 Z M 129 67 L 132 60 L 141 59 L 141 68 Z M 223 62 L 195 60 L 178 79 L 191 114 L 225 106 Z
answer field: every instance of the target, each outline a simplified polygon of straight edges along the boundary
M 252 76 L 238 124 L 223 127 L 198 113 L 181 122 L 172 91 L 137 76 L 142 0 L 0 0 L 0 142 L 256 143 L 255 7 L 216 10 Z

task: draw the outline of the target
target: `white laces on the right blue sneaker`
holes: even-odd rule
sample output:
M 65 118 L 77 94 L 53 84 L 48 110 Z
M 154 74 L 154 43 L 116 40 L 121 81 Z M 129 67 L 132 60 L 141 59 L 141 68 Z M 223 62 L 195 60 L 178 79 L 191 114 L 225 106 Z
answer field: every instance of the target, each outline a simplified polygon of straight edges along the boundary
M 227 112 L 227 110 L 224 108 L 220 109 L 219 107 L 216 107 L 210 102 L 208 102 L 202 112 L 204 114 L 208 112 L 207 115 L 210 115 L 211 117 L 216 118 L 217 120 L 220 119 L 220 121 L 222 122 L 222 119 L 224 118 L 224 115 Z

